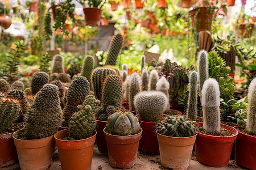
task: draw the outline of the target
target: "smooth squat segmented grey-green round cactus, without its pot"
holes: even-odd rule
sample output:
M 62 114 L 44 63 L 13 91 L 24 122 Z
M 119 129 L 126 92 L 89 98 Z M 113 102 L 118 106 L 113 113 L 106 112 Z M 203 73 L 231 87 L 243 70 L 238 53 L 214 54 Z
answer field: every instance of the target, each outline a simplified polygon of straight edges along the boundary
M 106 129 L 114 135 L 133 135 L 140 131 L 138 118 L 126 111 L 118 111 L 110 115 Z

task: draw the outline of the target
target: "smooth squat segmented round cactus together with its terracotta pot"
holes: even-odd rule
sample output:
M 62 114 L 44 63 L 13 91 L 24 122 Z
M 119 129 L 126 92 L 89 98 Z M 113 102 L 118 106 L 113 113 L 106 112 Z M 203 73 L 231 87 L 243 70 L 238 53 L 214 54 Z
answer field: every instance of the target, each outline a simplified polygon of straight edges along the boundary
M 104 129 L 109 163 L 114 168 L 131 168 L 136 162 L 142 129 L 137 117 L 125 109 L 108 117 Z

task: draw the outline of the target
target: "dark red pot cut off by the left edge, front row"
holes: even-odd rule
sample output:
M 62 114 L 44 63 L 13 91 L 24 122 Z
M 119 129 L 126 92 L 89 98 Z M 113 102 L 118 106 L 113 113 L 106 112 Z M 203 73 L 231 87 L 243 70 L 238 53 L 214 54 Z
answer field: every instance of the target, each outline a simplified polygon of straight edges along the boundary
M 18 162 L 18 155 L 13 141 L 13 133 L 0 134 L 0 168 Z

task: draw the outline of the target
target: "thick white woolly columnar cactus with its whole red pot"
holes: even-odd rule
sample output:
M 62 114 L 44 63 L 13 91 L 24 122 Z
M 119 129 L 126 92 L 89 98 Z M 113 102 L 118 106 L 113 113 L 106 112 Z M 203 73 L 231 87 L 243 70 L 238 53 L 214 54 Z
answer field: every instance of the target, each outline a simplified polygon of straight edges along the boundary
M 195 124 L 198 129 L 196 159 L 211 167 L 225 167 L 238 131 L 220 123 L 220 89 L 215 79 L 204 82 L 201 100 L 204 121 Z

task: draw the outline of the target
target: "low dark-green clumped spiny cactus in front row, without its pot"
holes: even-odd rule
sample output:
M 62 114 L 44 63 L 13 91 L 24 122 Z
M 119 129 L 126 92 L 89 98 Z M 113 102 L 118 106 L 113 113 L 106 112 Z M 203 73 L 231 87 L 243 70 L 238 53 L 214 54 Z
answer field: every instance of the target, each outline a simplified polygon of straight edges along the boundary
M 196 134 L 196 128 L 183 116 L 165 117 L 158 125 L 156 131 L 169 137 L 191 137 Z

